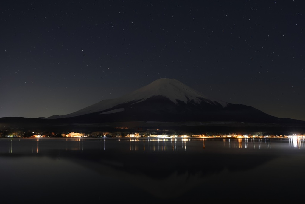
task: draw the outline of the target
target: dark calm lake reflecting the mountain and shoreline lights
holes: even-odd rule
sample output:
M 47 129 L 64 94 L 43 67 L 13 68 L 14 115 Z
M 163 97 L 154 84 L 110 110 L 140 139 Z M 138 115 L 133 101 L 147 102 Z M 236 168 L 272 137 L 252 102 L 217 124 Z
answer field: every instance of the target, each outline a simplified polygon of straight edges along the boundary
M 303 139 L 1 138 L 1 203 L 304 200 Z

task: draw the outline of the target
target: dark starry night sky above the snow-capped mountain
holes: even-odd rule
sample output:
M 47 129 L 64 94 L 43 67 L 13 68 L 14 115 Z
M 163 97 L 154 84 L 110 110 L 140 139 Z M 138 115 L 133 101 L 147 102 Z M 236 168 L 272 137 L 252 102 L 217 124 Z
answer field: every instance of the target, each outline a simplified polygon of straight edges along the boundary
M 305 1 L 5 1 L 0 117 L 72 113 L 175 78 L 305 120 Z

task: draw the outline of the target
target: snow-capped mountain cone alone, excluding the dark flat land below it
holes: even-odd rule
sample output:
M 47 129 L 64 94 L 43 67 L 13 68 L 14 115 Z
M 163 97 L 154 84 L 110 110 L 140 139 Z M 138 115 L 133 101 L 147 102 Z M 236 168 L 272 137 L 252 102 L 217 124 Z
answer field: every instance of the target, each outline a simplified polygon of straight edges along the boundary
M 176 79 L 160 78 L 116 99 L 102 100 L 67 115 L 53 115 L 71 123 L 114 121 L 230 121 L 281 123 L 292 120 L 268 115 L 254 107 L 204 96 Z

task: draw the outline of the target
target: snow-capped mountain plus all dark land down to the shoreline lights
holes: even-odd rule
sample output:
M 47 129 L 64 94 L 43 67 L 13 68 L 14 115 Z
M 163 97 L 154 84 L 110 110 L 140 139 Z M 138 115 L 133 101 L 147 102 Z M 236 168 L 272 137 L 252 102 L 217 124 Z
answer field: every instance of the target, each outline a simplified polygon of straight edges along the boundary
M 193 133 L 269 131 L 305 132 L 305 121 L 277 118 L 254 107 L 212 100 L 175 79 L 158 79 L 123 97 L 102 100 L 67 115 L 0 118 L 1 129 L 98 131 L 171 129 Z

